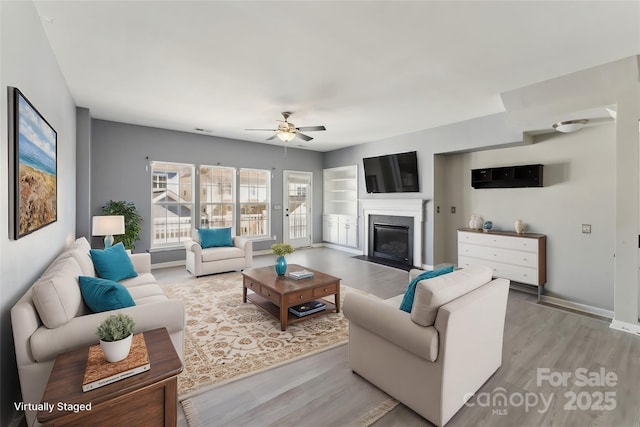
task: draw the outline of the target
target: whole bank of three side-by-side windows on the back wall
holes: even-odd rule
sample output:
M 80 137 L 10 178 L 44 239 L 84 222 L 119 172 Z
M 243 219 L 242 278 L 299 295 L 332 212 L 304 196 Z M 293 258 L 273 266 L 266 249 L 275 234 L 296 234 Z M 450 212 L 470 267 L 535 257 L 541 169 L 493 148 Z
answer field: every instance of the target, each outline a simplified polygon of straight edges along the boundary
M 154 161 L 151 172 L 152 248 L 180 247 L 193 228 L 271 236 L 271 171 Z

